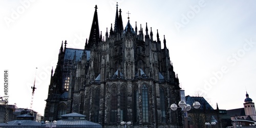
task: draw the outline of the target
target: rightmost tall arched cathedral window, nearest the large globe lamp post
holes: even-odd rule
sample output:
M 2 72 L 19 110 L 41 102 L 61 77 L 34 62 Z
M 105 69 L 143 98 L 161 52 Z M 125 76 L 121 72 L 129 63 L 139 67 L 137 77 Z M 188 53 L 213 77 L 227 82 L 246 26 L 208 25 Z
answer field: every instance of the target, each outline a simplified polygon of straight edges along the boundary
M 163 87 L 160 87 L 159 93 L 160 93 L 161 121 L 163 123 L 166 123 L 166 119 L 165 119 L 165 95 L 164 95 Z

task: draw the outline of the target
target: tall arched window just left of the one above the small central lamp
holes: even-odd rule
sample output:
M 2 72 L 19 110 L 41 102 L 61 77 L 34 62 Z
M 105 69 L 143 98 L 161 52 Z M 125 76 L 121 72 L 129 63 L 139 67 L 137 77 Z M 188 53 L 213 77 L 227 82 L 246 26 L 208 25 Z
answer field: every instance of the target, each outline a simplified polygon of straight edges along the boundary
M 111 89 L 111 122 L 117 122 L 117 88 L 113 86 Z

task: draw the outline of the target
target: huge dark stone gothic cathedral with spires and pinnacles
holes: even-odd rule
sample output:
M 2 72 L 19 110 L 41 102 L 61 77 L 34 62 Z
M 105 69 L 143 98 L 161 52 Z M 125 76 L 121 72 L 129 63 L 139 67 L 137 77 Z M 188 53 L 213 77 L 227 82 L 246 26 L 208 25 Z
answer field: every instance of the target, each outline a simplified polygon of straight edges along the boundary
M 114 15 L 113 15 L 114 17 Z M 179 79 L 170 62 L 163 37 L 145 24 L 138 30 L 128 17 L 123 27 L 121 9 L 116 7 L 114 28 L 102 38 L 97 5 L 84 49 L 61 44 L 58 63 L 51 75 L 45 120 L 59 120 L 68 113 L 86 115 L 102 127 L 182 127 L 182 112 L 171 111 L 180 101 Z

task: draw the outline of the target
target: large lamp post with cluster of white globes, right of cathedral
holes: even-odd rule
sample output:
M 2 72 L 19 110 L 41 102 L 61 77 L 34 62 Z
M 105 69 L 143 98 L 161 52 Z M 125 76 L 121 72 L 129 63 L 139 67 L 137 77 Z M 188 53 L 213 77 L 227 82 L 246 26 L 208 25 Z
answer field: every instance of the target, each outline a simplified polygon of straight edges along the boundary
M 191 106 L 189 104 L 186 104 L 185 101 L 181 100 L 178 105 L 179 107 L 175 103 L 173 103 L 172 105 L 170 105 L 170 109 L 172 109 L 173 111 L 176 111 L 177 108 L 182 108 L 184 110 L 184 127 L 187 128 L 188 127 L 187 111 L 191 110 L 192 107 L 195 109 L 199 109 L 201 104 L 198 101 L 195 101 L 193 103 L 193 106 Z

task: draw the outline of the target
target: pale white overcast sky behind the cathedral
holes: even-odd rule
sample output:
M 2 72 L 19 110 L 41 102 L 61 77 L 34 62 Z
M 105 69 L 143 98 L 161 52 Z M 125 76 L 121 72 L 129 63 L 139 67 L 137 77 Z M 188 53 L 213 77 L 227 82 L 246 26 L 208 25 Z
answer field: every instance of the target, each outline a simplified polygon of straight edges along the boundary
M 256 1 L 0 1 L 1 78 L 9 70 L 9 104 L 44 115 L 51 69 L 56 68 L 61 41 L 84 47 L 94 7 L 105 36 L 115 22 L 116 2 L 123 26 L 158 29 L 165 35 L 170 60 L 185 95 L 200 90 L 216 109 L 243 108 L 246 91 L 256 100 Z M 114 27 L 114 26 L 113 26 Z M 163 47 L 163 44 L 162 44 Z M 38 68 L 36 70 L 36 68 Z M 2 82 L 0 95 L 4 96 Z

